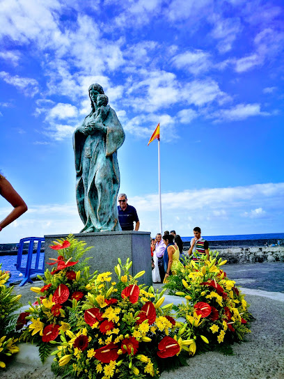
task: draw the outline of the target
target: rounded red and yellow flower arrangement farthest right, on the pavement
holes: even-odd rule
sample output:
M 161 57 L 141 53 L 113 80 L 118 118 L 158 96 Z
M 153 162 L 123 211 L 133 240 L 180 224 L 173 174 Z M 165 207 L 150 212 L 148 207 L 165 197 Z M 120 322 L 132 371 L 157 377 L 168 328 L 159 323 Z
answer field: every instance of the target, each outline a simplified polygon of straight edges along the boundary
M 231 344 L 242 341 L 245 334 L 250 333 L 248 321 L 252 316 L 248 313 L 248 304 L 235 281 L 228 279 L 221 269 L 226 261 L 222 258 L 216 261 L 218 255 L 210 251 L 209 260 L 206 256 L 200 261 L 187 259 L 165 286 L 171 294 L 186 300 L 186 304 L 182 302 L 176 310 L 178 316 L 186 320 L 182 324 L 184 335 L 194 339 L 189 355 L 194 355 L 196 350 L 216 348 L 230 354 Z

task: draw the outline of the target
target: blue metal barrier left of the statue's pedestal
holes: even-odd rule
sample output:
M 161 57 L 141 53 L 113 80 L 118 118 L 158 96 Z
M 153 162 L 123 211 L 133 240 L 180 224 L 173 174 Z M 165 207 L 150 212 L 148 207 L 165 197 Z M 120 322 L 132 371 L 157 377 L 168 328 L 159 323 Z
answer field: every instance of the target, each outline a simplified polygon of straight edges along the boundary
M 22 262 L 24 243 L 29 242 L 28 257 L 26 263 Z M 38 247 L 36 249 L 36 261 L 34 262 L 33 267 L 33 247 L 35 242 L 38 242 Z M 22 238 L 19 240 L 19 249 L 17 254 L 17 263 L 15 263 L 16 269 L 22 274 L 24 274 L 24 279 L 21 281 L 19 286 L 24 286 L 26 282 L 33 283 L 31 280 L 32 274 L 43 274 L 45 272 L 45 258 L 43 257 L 42 263 L 40 265 L 40 249 L 42 248 L 42 242 L 45 242 L 45 238 L 38 237 L 28 237 Z M 41 267 L 40 267 L 41 266 Z

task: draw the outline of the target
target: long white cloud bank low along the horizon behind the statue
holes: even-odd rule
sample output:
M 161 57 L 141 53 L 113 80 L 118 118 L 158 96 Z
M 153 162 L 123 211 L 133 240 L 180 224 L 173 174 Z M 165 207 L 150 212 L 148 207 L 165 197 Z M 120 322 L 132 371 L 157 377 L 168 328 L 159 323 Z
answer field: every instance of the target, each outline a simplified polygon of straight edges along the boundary
M 203 235 L 241 233 L 274 233 L 269 228 L 283 221 L 284 183 L 266 183 L 239 187 L 192 189 L 162 193 L 164 230 L 175 229 L 180 235 L 191 235 L 194 226 L 201 226 Z M 133 196 L 141 230 L 159 231 L 159 195 Z M 265 208 L 263 206 L 265 204 Z M 10 208 L 0 208 L 4 217 Z M 254 219 L 253 225 L 251 218 Z M 213 222 L 214 220 L 214 222 Z M 282 222 L 283 224 L 283 222 Z M 29 210 L 5 229 L 3 243 L 18 242 L 30 235 L 78 233 L 82 224 L 76 204 L 29 205 Z M 280 229 L 279 229 L 280 230 Z

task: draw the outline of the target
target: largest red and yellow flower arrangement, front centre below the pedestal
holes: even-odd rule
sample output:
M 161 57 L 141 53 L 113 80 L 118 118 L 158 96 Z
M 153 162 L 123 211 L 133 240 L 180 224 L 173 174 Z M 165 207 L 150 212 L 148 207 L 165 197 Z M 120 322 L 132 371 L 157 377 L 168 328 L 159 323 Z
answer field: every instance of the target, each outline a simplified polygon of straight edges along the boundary
M 159 378 L 166 366 L 186 364 L 180 325 L 171 316 L 172 304 L 162 306 L 164 291 L 137 285 L 144 272 L 129 275 L 132 262 L 98 274 L 77 303 L 76 330 L 61 329 L 54 351 L 53 371 L 81 379 Z M 186 354 L 186 353 L 185 353 Z

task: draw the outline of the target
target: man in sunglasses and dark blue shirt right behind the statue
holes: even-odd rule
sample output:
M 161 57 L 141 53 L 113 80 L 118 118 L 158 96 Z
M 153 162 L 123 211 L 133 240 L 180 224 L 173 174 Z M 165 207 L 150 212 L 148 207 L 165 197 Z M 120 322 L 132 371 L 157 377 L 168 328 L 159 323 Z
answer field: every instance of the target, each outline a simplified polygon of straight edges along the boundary
M 140 222 L 136 209 L 127 204 L 126 194 L 118 195 L 118 219 L 123 231 L 133 231 L 135 222 L 135 231 L 139 230 Z

